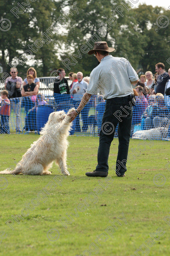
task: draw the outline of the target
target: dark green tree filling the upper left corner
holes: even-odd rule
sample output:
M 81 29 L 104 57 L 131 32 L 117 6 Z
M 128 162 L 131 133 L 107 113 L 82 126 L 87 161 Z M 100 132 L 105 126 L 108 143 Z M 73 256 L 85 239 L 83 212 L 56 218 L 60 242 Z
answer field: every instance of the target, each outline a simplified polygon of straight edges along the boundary
M 28 7 L 23 3 L 19 6 L 16 0 L 1 2 L 1 20 L 8 19 L 11 23 L 11 28 L 1 31 L 0 35 L 0 65 L 3 72 L 9 72 L 10 67 L 16 63 L 19 68 L 27 68 L 25 62 L 35 59 L 41 60 L 42 73 L 46 75 L 52 66 L 56 65 L 54 43 L 58 39 L 56 32 L 52 30 L 49 34 L 46 30 L 61 15 L 60 1 L 57 3 L 53 0 L 27 0 L 27 5 L 30 5 Z M 16 8 L 23 13 L 17 13 Z M 11 65 L 8 65 L 10 63 Z

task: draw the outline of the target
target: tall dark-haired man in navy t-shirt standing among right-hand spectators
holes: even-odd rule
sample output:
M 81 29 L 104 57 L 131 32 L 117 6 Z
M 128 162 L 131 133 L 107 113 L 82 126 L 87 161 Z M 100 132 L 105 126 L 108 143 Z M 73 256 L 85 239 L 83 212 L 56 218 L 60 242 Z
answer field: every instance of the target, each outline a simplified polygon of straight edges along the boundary
M 165 93 L 166 82 L 170 79 L 168 73 L 165 71 L 165 65 L 161 62 L 155 65 L 155 71 L 158 73 L 157 84 L 155 85 L 155 93 Z

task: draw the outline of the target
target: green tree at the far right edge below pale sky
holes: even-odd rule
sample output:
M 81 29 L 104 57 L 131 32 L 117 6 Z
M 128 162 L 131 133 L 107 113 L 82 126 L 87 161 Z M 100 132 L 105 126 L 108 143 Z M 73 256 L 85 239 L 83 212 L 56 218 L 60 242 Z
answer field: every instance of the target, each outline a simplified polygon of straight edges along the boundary
M 168 70 L 167 59 L 170 52 L 169 46 L 169 26 L 159 27 L 160 16 L 166 16 L 170 19 L 170 14 L 162 7 L 152 7 L 151 5 L 139 5 L 134 9 L 134 18 L 138 19 L 138 27 L 141 29 L 143 44 L 143 53 L 139 56 L 139 63 L 143 67 L 143 72 L 147 70 L 155 73 L 155 64 L 163 62 L 165 69 Z M 162 23 L 166 22 L 165 20 Z M 166 25 L 166 24 L 165 24 Z M 169 56 L 170 57 L 170 56 Z

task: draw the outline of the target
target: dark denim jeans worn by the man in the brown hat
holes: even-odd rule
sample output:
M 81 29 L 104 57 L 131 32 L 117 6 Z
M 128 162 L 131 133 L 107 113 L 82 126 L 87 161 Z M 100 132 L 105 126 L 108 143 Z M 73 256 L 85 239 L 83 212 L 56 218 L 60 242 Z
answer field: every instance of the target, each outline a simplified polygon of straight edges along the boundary
M 130 97 L 126 96 L 121 98 L 116 97 L 106 101 L 99 135 L 99 148 L 97 154 L 98 165 L 96 166 L 96 171 L 108 172 L 110 144 L 114 139 L 117 124 L 119 146 L 116 161 L 116 173 L 122 175 L 127 171 L 126 162 L 131 136 L 132 110 L 124 107 L 127 106 L 131 108 L 131 105 L 129 104 L 130 100 Z M 116 116 L 114 113 L 116 113 Z

